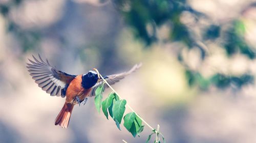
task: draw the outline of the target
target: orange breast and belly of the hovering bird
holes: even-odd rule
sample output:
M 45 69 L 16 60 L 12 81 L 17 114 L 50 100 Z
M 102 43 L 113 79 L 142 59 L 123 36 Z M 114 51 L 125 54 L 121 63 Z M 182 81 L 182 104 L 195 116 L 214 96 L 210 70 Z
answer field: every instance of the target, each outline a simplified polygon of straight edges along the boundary
M 82 75 L 78 75 L 69 84 L 69 87 L 66 92 L 66 101 L 68 103 L 73 102 L 73 104 L 76 104 L 76 99 L 75 99 L 76 96 L 78 96 L 79 99 L 82 101 L 84 100 L 84 98 L 89 96 L 90 91 L 91 91 L 91 88 L 84 89 L 82 87 Z

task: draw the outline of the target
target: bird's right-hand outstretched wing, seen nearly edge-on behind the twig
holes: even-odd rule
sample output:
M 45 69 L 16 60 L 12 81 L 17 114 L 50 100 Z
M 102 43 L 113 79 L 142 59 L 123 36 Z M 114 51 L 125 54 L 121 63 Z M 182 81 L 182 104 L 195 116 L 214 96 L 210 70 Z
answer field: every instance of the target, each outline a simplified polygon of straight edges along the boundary
M 118 82 L 119 80 L 123 79 L 125 76 L 135 72 L 137 69 L 139 69 L 142 66 L 142 64 L 136 64 L 133 66 L 132 69 L 130 69 L 127 72 L 122 72 L 122 73 L 118 73 L 118 74 L 112 74 L 112 75 L 108 75 L 108 76 L 104 76 L 104 79 L 110 84 L 115 84 L 116 82 Z M 99 79 L 98 82 L 92 87 L 92 91 L 90 93 L 90 97 L 95 96 L 95 90 L 103 83 L 103 79 Z M 108 88 L 107 84 L 104 84 L 104 89 Z

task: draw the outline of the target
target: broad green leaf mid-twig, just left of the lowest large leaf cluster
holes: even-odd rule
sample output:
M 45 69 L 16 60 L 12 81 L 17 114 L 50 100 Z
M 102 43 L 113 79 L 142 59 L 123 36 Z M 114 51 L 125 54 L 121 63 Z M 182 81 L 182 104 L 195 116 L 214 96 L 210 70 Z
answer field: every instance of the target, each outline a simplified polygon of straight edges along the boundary
M 119 124 L 121 124 L 121 121 L 123 118 L 125 104 L 126 104 L 125 99 L 118 100 L 118 101 L 114 102 L 114 104 L 113 104 L 113 108 L 112 108 L 113 117 L 114 117 L 114 119 L 116 119 L 118 121 Z

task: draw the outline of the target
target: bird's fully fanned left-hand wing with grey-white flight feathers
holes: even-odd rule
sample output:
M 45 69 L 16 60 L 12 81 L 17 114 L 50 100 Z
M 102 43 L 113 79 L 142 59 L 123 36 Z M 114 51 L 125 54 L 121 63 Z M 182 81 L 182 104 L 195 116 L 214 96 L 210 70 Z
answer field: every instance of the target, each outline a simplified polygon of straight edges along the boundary
M 33 55 L 34 61 L 28 59 L 28 71 L 30 75 L 42 90 L 49 93 L 51 96 L 66 96 L 66 90 L 69 83 L 76 75 L 67 74 L 52 67 L 48 60 L 43 61 L 38 54 L 39 60 Z

